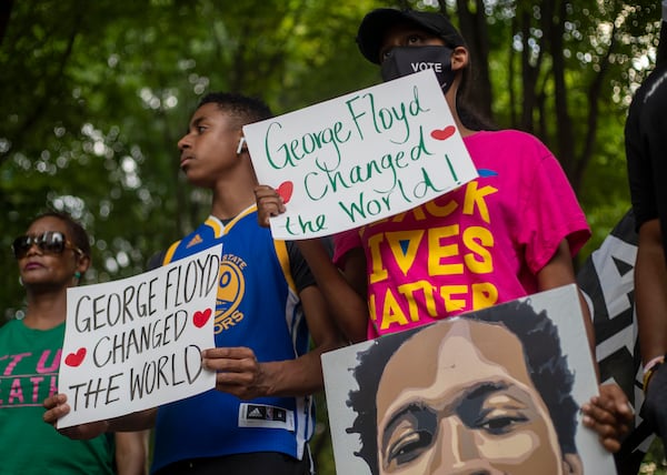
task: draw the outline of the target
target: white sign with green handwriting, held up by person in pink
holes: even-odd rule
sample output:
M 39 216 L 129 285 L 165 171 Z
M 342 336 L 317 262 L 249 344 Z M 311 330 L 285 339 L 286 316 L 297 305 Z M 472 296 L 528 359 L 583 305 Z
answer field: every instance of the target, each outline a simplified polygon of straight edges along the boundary
M 287 212 L 276 239 L 358 228 L 426 203 L 477 171 L 431 70 L 243 127 L 259 182 Z

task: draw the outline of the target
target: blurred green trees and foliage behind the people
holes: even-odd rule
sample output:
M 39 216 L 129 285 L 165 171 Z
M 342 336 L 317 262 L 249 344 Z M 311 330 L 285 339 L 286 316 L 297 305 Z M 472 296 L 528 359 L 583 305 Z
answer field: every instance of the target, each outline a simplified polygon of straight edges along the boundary
M 241 91 L 282 113 L 377 83 L 358 23 L 407 4 L 450 16 L 476 61 L 478 108 L 559 158 L 594 231 L 583 262 L 629 208 L 624 123 L 653 67 L 657 1 L 4 0 L 0 325 L 23 306 L 9 245 L 33 215 L 56 208 L 83 222 L 87 282 L 142 272 L 208 213 L 177 163 L 199 98 Z

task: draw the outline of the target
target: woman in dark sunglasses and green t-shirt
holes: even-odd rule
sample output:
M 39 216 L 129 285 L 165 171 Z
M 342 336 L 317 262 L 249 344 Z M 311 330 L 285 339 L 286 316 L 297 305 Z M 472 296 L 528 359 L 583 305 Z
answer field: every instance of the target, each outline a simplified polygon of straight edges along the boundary
M 72 441 L 42 421 L 42 401 L 58 387 L 67 289 L 90 266 L 88 234 L 69 215 L 49 212 L 11 250 L 27 309 L 0 327 L 0 473 L 145 474 L 147 434 Z

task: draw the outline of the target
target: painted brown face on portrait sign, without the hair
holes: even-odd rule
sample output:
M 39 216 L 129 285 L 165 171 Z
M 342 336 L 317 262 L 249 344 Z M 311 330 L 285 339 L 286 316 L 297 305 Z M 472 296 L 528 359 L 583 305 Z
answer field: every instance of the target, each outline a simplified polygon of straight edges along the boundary
M 500 325 L 442 322 L 401 345 L 378 386 L 377 426 L 380 474 L 580 473 L 564 462 L 521 342 Z

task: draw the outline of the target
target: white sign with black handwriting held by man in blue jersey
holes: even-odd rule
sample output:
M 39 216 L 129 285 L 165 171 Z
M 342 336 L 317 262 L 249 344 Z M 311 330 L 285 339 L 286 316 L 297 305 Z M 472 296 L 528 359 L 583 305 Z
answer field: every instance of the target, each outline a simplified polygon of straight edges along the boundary
M 133 277 L 68 289 L 58 426 L 118 417 L 216 385 L 201 366 L 215 346 L 222 245 Z

